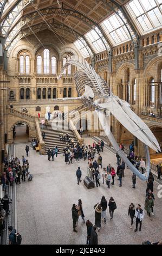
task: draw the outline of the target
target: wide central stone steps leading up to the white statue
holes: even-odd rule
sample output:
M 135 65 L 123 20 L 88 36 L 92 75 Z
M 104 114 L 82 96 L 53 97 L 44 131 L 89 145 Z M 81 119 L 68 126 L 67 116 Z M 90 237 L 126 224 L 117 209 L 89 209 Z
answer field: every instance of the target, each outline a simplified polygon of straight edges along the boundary
M 52 149 L 54 147 L 59 148 L 59 153 L 63 153 L 63 148 L 66 147 L 67 141 L 60 141 L 59 133 L 69 133 L 70 138 L 74 139 L 74 143 L 77 142 L 77 139 L 74 135 L 73 130 L 70 130 L 69 125 L 66 120 L 55 120 L 53 122 L 49 122 L 44 129 L 42 129 L 42 125 L 40 124 L 41 132 L 46 132 L 44 143 L 45 143 L 45 154 L 47 155 L 48 148 Z

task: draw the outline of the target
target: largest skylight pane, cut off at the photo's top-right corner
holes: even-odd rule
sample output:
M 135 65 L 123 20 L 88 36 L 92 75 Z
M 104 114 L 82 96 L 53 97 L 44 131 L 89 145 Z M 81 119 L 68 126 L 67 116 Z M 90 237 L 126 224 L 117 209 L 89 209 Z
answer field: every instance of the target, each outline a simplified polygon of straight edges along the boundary
M 126 7 L 142 34 L 162 25 L 162 0 L 133 0 Z

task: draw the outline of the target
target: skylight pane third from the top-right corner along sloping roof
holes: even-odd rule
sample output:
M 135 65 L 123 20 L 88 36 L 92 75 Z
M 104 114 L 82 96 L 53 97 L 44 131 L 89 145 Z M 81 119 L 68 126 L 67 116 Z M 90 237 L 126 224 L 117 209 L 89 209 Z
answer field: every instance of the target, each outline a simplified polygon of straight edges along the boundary
M 98 33 L 92 29 L 87 34 L 85 34 L 86 39 L 88 40 L 89 44 L 92 46 L 95 53 L 99 53 L 106 50 L 105 45 L 103 44 L 100 36 Z

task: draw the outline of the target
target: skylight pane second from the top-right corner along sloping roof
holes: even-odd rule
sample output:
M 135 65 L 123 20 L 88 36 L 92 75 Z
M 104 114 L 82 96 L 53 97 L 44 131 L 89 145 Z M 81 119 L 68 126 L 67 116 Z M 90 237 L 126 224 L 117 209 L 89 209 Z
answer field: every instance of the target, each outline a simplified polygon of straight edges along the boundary
M 121 42 L 130 40 L 126 26 L 117 14 L 113 14 L 105 21 L 101 22 L 101 27 L 111 39 L 112 44 L 120 44 Z

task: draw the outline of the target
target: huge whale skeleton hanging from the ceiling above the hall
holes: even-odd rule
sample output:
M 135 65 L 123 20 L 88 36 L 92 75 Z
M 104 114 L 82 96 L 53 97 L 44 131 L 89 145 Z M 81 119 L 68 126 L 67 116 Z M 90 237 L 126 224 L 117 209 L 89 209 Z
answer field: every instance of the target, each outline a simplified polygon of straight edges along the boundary
M 79 97 L 73 97 L 72 99 L 82 99 L 86 106 L 92 105 L 95 107 L 95 112 L 98 115 L 101 126 L 113 148 L 116 150 L 116 153 L 118 153 L 135 175 L 141 180 L 147 181 L 150 173 L 150 153 L 148 147 L 157 152 L 161 151 L 157 139 L 144 121 L 131 110 L 129 103 L 113 95 L 106 81 L 96 74 L 94 68 L 85 59 L 76 56 L 67 58 L 67 62 L 64 64 L 58 77 L 59 80 L 63 75 L 63 71 L 71 64 L 77 67 L 77 71 L 74 74 L 74 81 L 77 93 L 79 94 Z M 67 99 L 69 100 L 70 98 L 62 98 L 62 100 Z M 144 174 L 141 174 L 135 168 L 127 159 L 125 153 L 119 148 L 118 143 L 109 129 L 108 116 L 110 114 L 114 115 L 132 135 L 144 143 L 146 156 L 146 172 Z

